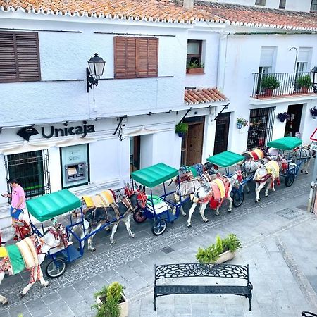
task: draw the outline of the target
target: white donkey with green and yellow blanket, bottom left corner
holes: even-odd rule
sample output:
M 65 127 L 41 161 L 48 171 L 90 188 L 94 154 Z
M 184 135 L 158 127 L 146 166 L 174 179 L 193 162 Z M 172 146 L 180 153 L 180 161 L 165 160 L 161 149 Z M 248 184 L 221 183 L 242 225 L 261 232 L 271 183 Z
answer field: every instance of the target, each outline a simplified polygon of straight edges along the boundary
M 25 294 L 30 290 L 32 285 L 39 280 L 41 282 L 41 285 L 46 287 L 49 285 L 49 281 L 44 280 L 43 273 L 41 269 L 41 263 L 45 259 L 46 253 L 51 248 L 56 247 L 67 247 L 68 241 L 67 241 L 67 235 L 66 230 L 63 227 L 63 225 L 55 225 L 52 227 L 49 227 L 42 237 L 38 237 L 37 235 L 32 235 L 31 237 L 27 237 L 24 240 L 18 242 L 20 244 L 20 247 L 17 247 L 20 249 L 21 256 L 19 257 L 20 263 L 28 263 L 30 267 L 30 282 L 29 284 L 23 288 L 23 290 L 20 292 L 20 297 L 24 297 Z M 33 244 L 34 247 L 31 245 L 30 248 L 28 245 Z M 15 244 L 17 246 L 17 244 Z M 11 246 L 9 246 L 11 247 Z M 14 246 L 12 246 L 14 247 Z M 15 248 L 16 249 L 16 248 Z M 30 250 L 30 251 L 29 251 Z M 23 270 L 22 266 L 19 268 L 13 264 L 11 264 L 11 261 L 9 260 L 9 256 L 5 256 L 6 254 L 9 254 L 9 251 L 5 249 L 5 247 L 0 248 L 0 254 L 2 254 L 3 257 L 0 257 L 0 284 L 2 280 L 4 279 L 4 275 L 14 275 L 19 273 Z M 21 260 L 23 259 L 23 260 Z M 18 260 L 16 260 L 14 263 L 17 263 Z M 34 264 L 34 266 L 32 265 Z M 25 264 L 26 265 L 26 264 Z M 24 268 L 25 269 L 25 268 Z M 0 295 L 0 302 L 3 305 L 8 304 L 8 299 L 2 295 Z

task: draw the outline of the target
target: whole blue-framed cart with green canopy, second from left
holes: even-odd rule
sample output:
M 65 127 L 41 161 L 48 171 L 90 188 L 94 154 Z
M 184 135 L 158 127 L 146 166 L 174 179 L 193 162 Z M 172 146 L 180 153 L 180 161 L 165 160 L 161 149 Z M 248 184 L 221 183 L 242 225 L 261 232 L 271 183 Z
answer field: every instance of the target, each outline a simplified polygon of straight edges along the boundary
M 153 220 L 151 230 L 154 235 L 162 235 L 165 232 L 167 224 L 173 223 L 180 216 L 182 204 L 189 199 L 180 197 L 178 203 L 168 199 L 175 191 L 167 193 L 165 182 L 175 177 L 178 177 L 178 186 L 180 186 L 178 170 L 164 163 L 142 168 L 131 173 L 132 180 L 150 189 L 150 195 L 147 196 L 147 204 L 144 208 L 135 211 L 133 218 L 137 223 L 142 223 L 147 218 Z M 161 184 L 163 184 L 164 193 L 161 196 L 154 195 L 152 189 Z

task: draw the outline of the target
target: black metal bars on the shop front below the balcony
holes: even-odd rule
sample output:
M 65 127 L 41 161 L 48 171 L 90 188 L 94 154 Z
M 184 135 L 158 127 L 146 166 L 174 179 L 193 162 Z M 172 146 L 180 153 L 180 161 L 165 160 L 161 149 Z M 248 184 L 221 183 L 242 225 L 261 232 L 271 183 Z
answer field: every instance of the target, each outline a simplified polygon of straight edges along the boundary
M 247 150 L 264 147 L 272 139 L 275 107 L 250 111 Z

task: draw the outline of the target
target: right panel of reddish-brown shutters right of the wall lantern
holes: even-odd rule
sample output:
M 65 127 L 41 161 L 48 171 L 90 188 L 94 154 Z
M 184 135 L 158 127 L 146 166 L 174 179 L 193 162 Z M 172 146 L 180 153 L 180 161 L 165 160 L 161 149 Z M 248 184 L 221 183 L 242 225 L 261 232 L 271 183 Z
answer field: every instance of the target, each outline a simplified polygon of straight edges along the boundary
M 157 77 L 159 39 L 137 39 L 137 77 Z

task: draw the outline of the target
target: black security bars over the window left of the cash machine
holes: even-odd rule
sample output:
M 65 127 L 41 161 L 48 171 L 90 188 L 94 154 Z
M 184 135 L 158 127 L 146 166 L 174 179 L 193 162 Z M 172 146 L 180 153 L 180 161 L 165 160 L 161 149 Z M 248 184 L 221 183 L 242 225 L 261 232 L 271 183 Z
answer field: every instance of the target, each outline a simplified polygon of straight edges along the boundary
M 25 191 L 25 197 L 37 197 L 51 192 L 48 150 L 5 156 L 6 179 L 15 178 Z M 11 189 L 8 185 L 8 192 Z

